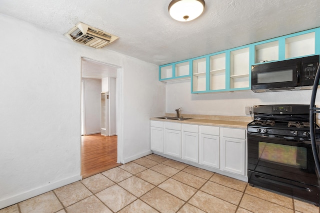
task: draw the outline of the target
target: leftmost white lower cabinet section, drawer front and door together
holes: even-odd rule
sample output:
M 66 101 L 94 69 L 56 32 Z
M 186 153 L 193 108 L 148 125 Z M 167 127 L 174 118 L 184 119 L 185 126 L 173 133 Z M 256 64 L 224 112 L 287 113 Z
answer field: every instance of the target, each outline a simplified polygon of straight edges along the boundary
M 152 151 L 164 152 L 164 122 L 150 121 L 150 149 Z

